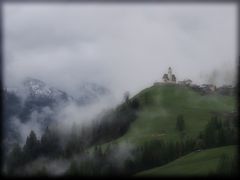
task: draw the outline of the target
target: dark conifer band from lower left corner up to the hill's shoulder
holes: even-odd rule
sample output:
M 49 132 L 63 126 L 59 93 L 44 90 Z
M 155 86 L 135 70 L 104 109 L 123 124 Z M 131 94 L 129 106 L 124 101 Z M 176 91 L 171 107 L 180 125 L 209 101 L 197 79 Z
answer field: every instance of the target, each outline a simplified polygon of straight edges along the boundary
M 61 143 L 62 137 L 54 130 L 47 128 L 40 140 L 35 132 L 31 131 L 23 148 L 16 144 L 7 155 L 7 171 L 14 172 L 41 156 L 50 159 L 70 158 L 76 153 L 83 153 L 88 147 L 120 137 L 136 119 L 138 108 L 137 100 L 125 97 L 125 103 L 94 120 L 91 125 L 79 129 L 73 124 L 70 137 L 64 145 Z

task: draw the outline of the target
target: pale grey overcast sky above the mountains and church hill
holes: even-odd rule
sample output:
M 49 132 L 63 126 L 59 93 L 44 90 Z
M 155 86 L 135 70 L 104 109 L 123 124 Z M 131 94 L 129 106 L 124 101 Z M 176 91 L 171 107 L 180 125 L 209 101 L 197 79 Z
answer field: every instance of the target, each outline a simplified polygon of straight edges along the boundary
M 7 4 L 4 78 L 39 78 L 69 93 L 83 81 L 117 97 L 162 81 L 230 83 L 237 62 L 235 4 Z M 221 72 L 221 74 L 220 74 Z

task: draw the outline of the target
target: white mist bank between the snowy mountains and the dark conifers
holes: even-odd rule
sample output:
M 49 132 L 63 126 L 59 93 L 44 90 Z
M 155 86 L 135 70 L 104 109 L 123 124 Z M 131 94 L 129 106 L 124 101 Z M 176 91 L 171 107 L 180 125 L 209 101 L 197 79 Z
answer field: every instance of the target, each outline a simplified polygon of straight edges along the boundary
M 41 138 L 47 126 L 63 136 L 68 136 L 73 126 L 79 129 L 91 126 L 94 120 L 101 119 L 101 115 L 116 105 L 117 101 L 111 95 L 99 97 L 88 105 L 69 101 L 60 103 L 54 108 L 45 106 L 40 111 L 34 110 L 26 121 L 12 117 L 10 127 L 16 131 L 18 141 L 23 146 L 32 130 L 38 139 Z

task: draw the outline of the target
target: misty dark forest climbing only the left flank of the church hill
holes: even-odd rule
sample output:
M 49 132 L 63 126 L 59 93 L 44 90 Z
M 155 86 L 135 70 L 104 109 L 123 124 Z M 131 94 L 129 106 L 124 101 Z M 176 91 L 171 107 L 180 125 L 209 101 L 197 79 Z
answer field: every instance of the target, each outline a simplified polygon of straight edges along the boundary
M 91 125 L 72 129 L 70 140 L 65 147 L 65 156 L 106 142 L 110 142 L 127 132 L 129 125 L 137 118 L 139 102 L 136 99 L 129 100 L 125 97 L 125 103 L 104 114 L 103 117 L 92 122 Z

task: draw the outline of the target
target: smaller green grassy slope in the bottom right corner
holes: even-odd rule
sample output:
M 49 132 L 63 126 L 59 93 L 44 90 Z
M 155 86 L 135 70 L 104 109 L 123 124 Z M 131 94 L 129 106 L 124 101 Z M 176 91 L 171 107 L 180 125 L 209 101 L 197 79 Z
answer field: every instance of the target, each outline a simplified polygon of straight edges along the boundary
M 137 173 L 136 176 L 208 175 L 216 170 L 223 154 L 231 158 L 236 151 L 236 146 L 225 146 L 192 152 L 164 166 Z

